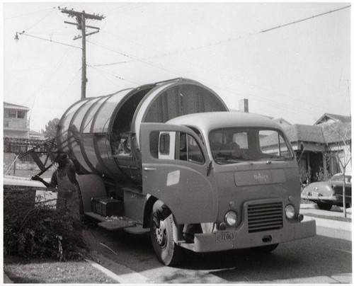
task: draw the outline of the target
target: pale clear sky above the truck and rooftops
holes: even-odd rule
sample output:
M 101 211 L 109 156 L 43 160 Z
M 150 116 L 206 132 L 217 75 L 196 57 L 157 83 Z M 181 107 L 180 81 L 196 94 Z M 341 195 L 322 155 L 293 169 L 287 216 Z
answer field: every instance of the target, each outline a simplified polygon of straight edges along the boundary
M 348 2 L 2 4 L 3 98 L 30 108 L 31 130 L 81 96 L 81 30 L 58 6 L 105 16 L 86 21 L 100 28 L 87 37 L 86 97 L 183 77 L 292 124 L 350 115 L 351 7 L 334 11 Z

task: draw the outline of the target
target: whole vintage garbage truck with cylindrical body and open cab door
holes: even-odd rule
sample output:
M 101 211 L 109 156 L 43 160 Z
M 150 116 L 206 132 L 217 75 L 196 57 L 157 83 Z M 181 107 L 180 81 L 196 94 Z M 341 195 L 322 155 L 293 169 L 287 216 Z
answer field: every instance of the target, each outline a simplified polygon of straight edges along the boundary
M 56 140 L 74 162 L 84 214 L 104 229 L 149 231 L 164 265 L 181 262 L 183 248 L 273 251 L 316 235 L 299 214 L 299 171 L 282 128 L 229 111 L 197 81 L 81 99 Z

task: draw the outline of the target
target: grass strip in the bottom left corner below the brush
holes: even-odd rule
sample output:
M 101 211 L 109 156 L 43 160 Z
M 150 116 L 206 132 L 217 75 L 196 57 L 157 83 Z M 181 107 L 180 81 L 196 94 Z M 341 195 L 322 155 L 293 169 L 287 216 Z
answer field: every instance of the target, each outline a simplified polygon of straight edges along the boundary
M 22 257 L 4 255 L 4 271 L 14 283 L 117 283 L 83 260 L 25 260 Z

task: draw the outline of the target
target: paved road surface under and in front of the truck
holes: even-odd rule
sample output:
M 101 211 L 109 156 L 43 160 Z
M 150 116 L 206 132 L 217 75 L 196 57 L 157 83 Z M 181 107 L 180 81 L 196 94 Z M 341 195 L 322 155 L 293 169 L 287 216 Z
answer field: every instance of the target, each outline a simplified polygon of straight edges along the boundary
M 148 235 L 85 232 L 93 254 L 120 282 L 155 283 L 349 283 L 352 248 L 348 239 L 315 236 L 280 245 L 273 253 L 227 251 L 185 253 L 178 268 L 161 265 Z

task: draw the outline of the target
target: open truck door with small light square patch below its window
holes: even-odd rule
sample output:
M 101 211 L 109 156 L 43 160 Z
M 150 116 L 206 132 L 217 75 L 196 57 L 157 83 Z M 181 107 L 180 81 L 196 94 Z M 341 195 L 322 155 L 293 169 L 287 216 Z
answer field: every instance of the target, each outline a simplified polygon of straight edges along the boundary
M 215 176 L 198 135 L 184 126 L 143 123 L 140 139 L 143 193 L 164 202 L 178 224 L 215 222 Z

